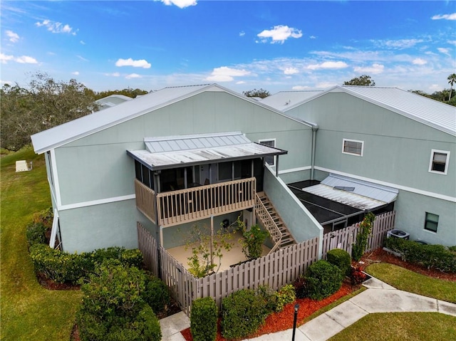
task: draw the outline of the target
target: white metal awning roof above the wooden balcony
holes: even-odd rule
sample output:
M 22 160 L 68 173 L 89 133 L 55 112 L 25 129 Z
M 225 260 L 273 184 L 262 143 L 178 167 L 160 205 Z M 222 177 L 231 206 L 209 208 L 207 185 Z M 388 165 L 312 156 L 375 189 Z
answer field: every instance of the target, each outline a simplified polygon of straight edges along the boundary
M 253 159 L 287 153 L 283 149 L 252 142 L 242 132 L 146 137 L 144 142 L 146 149 L 128 150 L 127 153 L 152 170 Z

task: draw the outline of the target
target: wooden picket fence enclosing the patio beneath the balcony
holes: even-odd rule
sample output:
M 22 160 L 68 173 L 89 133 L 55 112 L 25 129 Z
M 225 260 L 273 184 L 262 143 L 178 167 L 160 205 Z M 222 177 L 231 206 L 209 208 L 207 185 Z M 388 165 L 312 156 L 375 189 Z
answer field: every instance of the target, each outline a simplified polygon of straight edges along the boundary
M 237 290 L 258 288 L 260 285 L 268 285 L 269 288 L 277 290 L 292 283 L 318 259 L 318 238 L 314 238 L 233 266 L 226 271 L 195 278 L 182 263 L 172 258 L 165 248 L 157 246 L 155 239 L 140 223 L 138 237 L 143 239 L 139 248 L 144 255 L 145 266 L 171 288 L 173 297 L 187 315 L 190 315 L 192 301 L 197 298 L 210 296 L 218 307 L 222 308 L 222 299 Z

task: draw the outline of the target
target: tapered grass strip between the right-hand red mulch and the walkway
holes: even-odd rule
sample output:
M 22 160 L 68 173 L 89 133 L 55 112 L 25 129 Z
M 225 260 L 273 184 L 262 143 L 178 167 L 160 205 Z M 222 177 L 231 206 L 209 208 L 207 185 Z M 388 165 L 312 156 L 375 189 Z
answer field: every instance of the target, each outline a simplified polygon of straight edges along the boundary
M 456 303 L 456 282 L 430 278 L 388 263 L 372 264 L 366 272 L 399 290 Z

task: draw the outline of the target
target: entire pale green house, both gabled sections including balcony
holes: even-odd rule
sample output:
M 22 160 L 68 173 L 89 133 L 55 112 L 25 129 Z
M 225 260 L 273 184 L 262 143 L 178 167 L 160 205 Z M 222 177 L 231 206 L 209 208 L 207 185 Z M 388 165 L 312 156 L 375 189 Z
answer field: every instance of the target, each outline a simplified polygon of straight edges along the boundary
M 53 236 L 68 252 L 164 248 L 242 214 L 271 249 L 397 211 L 413 239 L 456 244 L 455 108 L 395 88 L 334 87 L 252 100 L 217 84 L 170 87 L 32 136 Z M 280 221 L 270 221 L 263 201 Z M 269 220 L 268 220 L 269 219 Z

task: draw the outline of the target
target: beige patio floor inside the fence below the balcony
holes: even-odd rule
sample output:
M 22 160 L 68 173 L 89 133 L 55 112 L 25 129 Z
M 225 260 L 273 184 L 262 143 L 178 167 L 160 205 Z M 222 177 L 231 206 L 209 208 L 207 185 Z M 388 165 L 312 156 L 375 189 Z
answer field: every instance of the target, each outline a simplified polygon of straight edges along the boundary
M 229 243 L 232 245 L 232 248 L 230 251 L 223 251 L 223 257 L 221 259 L 222 264 L 219 268 L 219 271 L 217 272 L 225 271 L 229 269 L 230 266 L 247 261 L 247 258 L 244 256 L 244 253 L 242 253 L 241 243 L 239 243 L 239 239 L 242 238 L 242 233 L 240 231 L 237 231 L 233 234 L 232 239 L 229 241 Z M 265 245 L 263 245 L 262 248 L 263 253 L 261 254 L 261 256 L 266 256 L 271 250 L 271 248 L 268 248 Z M 182 263 L 182 266 L 184 266 L 184 268 L 188 270 L 188 258 L 192 256 L 191 246 L 177 246 L 175 248 L 167 248 L 166 251 L 170 253 L 172 258 L 175 258 L 176 261 Z M 218 263 L 217 258 L 214 259 L 214 263 Z

